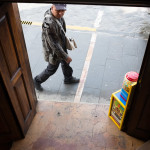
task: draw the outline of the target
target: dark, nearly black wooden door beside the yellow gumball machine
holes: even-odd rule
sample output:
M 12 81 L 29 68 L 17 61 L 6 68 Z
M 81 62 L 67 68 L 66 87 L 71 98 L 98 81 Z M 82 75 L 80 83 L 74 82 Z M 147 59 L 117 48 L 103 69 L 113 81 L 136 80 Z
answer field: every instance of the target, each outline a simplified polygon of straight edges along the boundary
M 150 38 L 126 127 L 128 134 L 143 140 L 150 139 Z

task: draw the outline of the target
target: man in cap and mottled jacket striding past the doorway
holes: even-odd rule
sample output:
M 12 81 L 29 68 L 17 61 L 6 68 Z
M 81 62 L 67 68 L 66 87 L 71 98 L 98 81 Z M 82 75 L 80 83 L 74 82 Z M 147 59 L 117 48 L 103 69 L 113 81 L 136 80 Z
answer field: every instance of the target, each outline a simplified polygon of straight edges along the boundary
M 73 70 L 69 66 L 72 61 L 66 49 L 66 38 L 58 24 L 59 21 L 66 32 L 66 24 L 63 15 L 66 11 L 66 4 L 53 4 L 44 14 L 42 24 L 42 43 L 45 61 L 48 62 L 47 68 L 34 78 L 35 88 L 42 91 L 41 83 L 45 82 L 53 75 L 61 63 L 64 74 L 64 83 L 78 83 L 79 79 L 72 76 Z M 56 21 L 57 19 L 57 21 Z

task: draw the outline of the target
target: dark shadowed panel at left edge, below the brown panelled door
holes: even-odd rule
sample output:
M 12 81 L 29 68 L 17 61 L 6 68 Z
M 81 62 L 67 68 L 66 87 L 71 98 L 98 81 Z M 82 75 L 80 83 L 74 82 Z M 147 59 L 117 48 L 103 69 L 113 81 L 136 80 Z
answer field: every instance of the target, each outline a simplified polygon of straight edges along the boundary
M 0 74 L 0 149 L 2 143 L 8 143 L 21 137 L 18 122 L 15 121 L 14 111 L 10 105 L 10 98 L 7 94 L 2 76 Z

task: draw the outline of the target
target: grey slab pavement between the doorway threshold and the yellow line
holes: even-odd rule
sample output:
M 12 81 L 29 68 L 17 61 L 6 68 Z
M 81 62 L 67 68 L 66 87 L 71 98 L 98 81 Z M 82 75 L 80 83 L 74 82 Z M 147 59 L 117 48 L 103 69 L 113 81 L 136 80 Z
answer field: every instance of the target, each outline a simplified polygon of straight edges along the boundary
M 102 24 L 106 17 L 102 18 Z M 35 16 L 33 18 L 35 19 Z M 35 77 L 47 66 L 42 53 L 41 26 L 23 25 L 23 31 L 32 75 Z M 83 72 L 93 32 L 67 30 L 67 35 L 73 37 L 78 44 L 76 50 L 69 52 L 73 59 L 70 65 L 76 77 L 80 77 Z M 95 32 L 97 38 L 80 102 L 109 104 L 111 93 L 121 88 L 125 73 L 140 71 L 147 39 L 137 37 L 137 34 L 133 37 L 133 34 L 130 36 L 127 33 L 104 32 L 99 29 Z M 59 67 L 56 74 L 42 84 L 44 91 L 36 91 L 37 98 L 38 100 L 73 102 L 78 85 L 63 84 L 63 74 Z

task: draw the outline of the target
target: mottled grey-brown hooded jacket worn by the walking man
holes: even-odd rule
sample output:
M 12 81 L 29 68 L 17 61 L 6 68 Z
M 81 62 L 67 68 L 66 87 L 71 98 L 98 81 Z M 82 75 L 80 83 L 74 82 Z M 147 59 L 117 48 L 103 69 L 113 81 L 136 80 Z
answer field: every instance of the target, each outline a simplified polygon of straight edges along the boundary
M 66 24 L 63 18 L 58 20 L 64 31 Z M 44 59 L 51 64 L 56 64 L 68 57 L 66 50 L 66 38 L 60 26 L 56 22 L 56 18 L 52 15 L 51 10 L 47 10 L 44 14 L 42 24 L 42 44 L 44 50 Z

